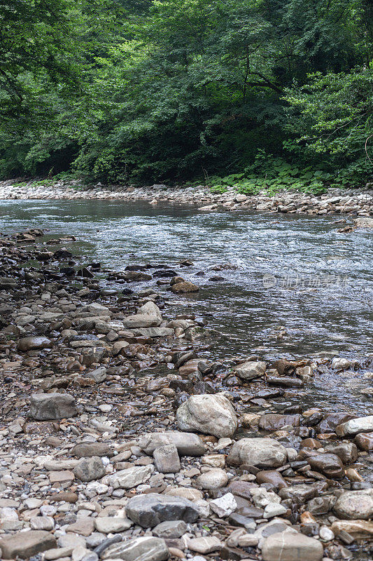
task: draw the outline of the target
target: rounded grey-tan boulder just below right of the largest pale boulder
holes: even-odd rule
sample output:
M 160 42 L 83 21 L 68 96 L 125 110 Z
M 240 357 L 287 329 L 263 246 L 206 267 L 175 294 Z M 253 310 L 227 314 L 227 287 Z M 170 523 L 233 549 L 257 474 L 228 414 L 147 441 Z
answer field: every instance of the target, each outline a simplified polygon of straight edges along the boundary
M 241 438 L 234 442 L 228 464 L 248 464 L 258 468 L 277 468 L 286 463 L 286 448 L 272 438 Z

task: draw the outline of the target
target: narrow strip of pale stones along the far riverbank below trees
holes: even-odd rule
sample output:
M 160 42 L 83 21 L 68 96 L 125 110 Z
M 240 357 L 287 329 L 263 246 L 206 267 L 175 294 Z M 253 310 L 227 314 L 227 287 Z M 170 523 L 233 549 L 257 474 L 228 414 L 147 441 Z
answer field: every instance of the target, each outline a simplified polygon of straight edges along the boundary
M 233 188 L 223 194 L 211 193 L 203 187 L 111 187 L 99 185 L 85 188 L 79 182 L 55 183 L 35 186 L 0 182 L 0 199 L 66 199 L 73 200 L 120 200 L 148 201 L 157 205 L 169 203 L 192 204 L 199 210 L 259 210 L 262 212 L 305 213 L 307 215 L 347 214 L 361 217 L 373 215 L 373 189 L 330 189 L 327 194 L 316 196 L 297 191 L 281 191 L 274 196 L 258 194 L 246 196 Z

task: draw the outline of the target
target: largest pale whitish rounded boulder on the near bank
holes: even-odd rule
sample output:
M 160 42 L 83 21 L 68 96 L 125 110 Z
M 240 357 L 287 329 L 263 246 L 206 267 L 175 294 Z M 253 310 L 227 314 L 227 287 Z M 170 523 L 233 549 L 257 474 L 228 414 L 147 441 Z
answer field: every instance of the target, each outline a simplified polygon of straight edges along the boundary
M 181 431 L 211 434 L 217 438 L 231 437 L 237 428 L 237 417 L 230 403 L 221 394 L 192 396 L 176 412 Z

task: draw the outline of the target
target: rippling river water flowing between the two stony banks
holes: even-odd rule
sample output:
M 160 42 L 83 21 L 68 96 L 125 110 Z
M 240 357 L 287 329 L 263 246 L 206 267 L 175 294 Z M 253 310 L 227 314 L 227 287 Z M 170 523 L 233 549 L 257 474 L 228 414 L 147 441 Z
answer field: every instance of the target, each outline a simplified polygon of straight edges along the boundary
M 166 264 L 201 290 L 163 292 L 169 316 L 194 313 L 216 330 L 214 358 L 258 353 L 309 358 L 323 351 L 356 358 L 373 353 L 372 234 L 339 233 L 341 217 L 197 212 L 192 207 L 113 201 L 1 201 L 0 230 L 72 234 L 86 263 L 123 270 Z M 192 266 L 181 267 L 183 259 Z M 144 286 L 155 285 L 156 278 Z M 135 290 L 143 288 L 136 283 Z M 210 350 L 211 351 L 211 350 Z M 373 354 L 372 354 L 373 357 Z M 372 374 L 330 370 L 316 377 L 309 405 L 372 411 Z M 365 391 L 365 393 L 362 393 Z M 373 392 L 373 390 L 372 390 Z

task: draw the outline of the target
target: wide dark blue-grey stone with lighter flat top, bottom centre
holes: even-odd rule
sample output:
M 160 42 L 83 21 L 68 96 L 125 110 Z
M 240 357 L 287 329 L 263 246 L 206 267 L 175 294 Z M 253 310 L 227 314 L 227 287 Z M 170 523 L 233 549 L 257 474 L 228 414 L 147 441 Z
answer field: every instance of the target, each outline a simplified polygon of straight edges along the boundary
M 152 528 L 167 520 L 195 522 L 199 516 L 198 506 L 188 499 L 154 493 L 129 499 L 125 511 L 128 518 L 144 528 Z

